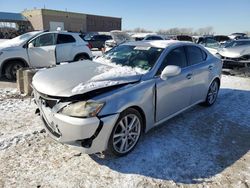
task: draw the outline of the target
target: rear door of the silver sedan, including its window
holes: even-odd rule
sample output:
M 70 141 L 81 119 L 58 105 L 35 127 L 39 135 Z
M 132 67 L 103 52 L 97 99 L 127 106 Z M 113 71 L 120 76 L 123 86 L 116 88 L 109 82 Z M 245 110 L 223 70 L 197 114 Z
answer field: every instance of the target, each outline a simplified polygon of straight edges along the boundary
M 213 65 L 206 61 L 207 54 L 196 46 L 186 46 L 188 65 L 193 69 L 191 104 L 204 100 Z

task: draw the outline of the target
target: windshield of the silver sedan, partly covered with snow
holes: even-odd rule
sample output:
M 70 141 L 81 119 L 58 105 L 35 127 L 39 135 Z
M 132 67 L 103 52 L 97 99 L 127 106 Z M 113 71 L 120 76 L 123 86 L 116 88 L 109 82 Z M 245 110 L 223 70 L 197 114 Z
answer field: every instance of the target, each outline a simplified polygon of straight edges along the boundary
M 148 71 L 154 66 L 162 51 L 163 48 L 120 45 L 106 52 L 101 59 L 106 63 Z

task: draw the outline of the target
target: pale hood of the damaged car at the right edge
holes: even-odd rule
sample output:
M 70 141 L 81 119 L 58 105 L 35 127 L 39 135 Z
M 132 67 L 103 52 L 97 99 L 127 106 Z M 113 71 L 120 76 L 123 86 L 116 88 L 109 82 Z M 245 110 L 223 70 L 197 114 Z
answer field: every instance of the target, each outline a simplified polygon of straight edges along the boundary
M 222 48 L 219 50 L 219 54 L 229 58 L 239 58 L 244 55 L 250 54 L 250 46 L 236 46 L 230 48 Z

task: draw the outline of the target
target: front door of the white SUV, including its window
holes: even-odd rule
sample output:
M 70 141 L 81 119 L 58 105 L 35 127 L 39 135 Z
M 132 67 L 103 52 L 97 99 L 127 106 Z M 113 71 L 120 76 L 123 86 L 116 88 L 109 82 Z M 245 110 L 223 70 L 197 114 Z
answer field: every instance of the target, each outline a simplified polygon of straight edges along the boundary
M 48 67 L 56 64 L 56 34 L 45 33 L 29 42 L 27 53 L 31 67 Z

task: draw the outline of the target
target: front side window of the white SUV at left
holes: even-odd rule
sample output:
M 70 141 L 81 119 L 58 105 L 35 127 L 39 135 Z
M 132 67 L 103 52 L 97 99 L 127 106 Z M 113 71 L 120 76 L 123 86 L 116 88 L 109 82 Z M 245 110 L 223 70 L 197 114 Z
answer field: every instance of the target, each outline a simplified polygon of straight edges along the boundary
M 55 45 L 55 40 L 54 33 L 47 33 L 35 38 L 31 43 L 33 43 L 34 47 L 51 46 Z

